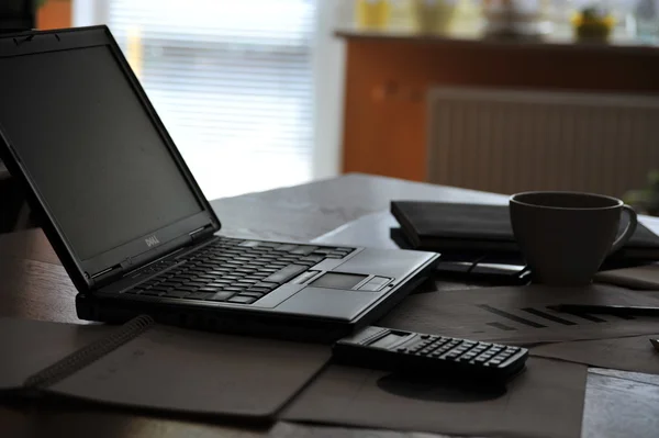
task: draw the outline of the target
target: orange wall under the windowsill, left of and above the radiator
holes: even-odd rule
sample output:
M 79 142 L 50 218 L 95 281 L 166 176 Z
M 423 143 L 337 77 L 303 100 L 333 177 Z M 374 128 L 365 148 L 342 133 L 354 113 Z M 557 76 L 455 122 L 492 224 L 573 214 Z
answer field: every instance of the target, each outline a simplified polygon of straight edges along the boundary
M 437 85 L 659 91 L 659 48 L 338 33 L 347 42 L 343 171 L 425 179 Z

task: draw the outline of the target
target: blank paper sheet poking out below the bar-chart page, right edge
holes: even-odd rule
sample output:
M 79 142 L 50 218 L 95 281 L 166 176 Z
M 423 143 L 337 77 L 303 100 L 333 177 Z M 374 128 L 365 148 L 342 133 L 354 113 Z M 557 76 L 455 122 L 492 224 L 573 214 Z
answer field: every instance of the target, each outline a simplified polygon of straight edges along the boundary
M 600 368 L 659 374 L 659 351 L 648 340 L 650 337 L 659 338 L 659 335 L 550 344 L 533 348 L 530 353 Z

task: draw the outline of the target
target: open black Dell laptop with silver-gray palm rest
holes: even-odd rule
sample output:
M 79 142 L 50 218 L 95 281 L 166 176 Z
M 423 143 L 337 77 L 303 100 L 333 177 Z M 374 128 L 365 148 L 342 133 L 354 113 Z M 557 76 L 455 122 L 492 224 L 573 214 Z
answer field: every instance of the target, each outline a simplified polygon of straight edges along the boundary
M 331 341 L 384 315 L 438 261 L 222 235 L 107 26 L 0 36 L 0 96 L 1 158 L 76 285 L 82 319 L 147 314 Z

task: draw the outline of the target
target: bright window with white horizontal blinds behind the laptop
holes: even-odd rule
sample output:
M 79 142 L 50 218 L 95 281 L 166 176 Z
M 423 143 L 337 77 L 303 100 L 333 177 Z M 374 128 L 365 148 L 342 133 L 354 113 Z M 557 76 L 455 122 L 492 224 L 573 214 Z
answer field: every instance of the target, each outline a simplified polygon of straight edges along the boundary
M 107 22 L 208 198 L 304 182 L 316 0 L 107 0 Z

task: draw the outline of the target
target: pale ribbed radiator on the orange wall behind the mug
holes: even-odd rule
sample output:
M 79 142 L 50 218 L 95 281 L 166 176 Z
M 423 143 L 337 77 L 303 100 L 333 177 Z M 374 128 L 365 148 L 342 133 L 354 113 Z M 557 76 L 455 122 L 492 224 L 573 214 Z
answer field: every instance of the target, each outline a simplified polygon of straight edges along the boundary
M 621 196 L 659 169 L 659 97 L 434 88 L 427 180 Z

